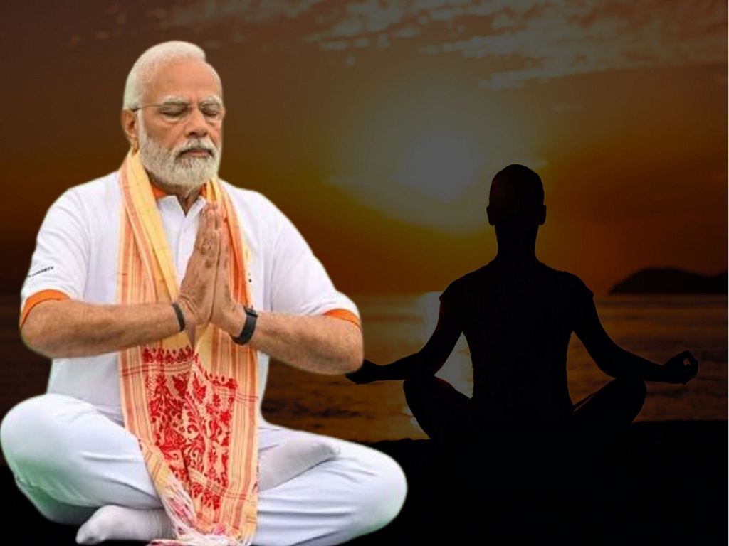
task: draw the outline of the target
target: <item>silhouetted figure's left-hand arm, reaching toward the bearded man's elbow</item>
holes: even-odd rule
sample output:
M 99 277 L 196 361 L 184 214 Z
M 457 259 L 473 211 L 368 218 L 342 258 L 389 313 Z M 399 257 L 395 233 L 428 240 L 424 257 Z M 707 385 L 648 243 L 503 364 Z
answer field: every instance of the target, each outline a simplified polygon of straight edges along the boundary
M 445 360 L 448 360 L 448 355 L 451 355 L 462 331 L 459 323 L 441 306 L 438 323 L 424 347 L 418 352 L 386 365 L 364 360 L 362 367 L 346 376 L 354 383 L 364 384 L 372 381 L 435 375 L 443 367 Z

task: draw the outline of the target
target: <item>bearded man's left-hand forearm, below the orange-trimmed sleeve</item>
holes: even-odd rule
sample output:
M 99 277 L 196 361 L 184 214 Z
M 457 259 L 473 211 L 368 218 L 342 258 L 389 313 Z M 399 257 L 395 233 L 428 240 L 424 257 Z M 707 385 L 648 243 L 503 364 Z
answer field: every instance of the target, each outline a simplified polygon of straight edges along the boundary
M 20 331 L 28 347 L 49 358 L 87 357 L 164 339 L 179 331 L 171 304 L 97 305 L 44 301 Z

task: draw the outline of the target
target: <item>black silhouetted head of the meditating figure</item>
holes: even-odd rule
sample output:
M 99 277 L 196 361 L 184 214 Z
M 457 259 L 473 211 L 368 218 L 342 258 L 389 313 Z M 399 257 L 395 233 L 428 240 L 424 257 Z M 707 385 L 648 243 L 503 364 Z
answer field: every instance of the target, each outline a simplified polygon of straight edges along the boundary
M 547 207 L 542 179 L 529 167 L 509 165 L 491 181 L 488 223 L 492 226 L 537 227 L 545 223 Z

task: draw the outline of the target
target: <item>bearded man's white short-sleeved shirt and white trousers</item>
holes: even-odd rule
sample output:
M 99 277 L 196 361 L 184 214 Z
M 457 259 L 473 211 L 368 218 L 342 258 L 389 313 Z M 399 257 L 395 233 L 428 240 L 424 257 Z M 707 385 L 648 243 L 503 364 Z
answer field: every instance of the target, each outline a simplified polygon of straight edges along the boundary
M 343 309 L 359 316 L 280 210 L 255 191 L 223 184 L 250 250 L 246 266 L 257 309 L 290 314 Z M 50 207 L 21 292 L 24 312 L 49 290 L 90 303 L 117 303 L 121 199 L 112 173 L 69 189 Z M 186 215 L 176 197 L 157 199 L 179 280 L 204 205 L 198 198 Z M 259 365 L 262 400 L 268 356 L 259 354 Z M 78 525 L 105 505 L 161 507 L 136 438 L 123 427 L 117 373 L 117 353 L 55 359 L 47 394 L 18 404 L 1 424 L 1 446 L 18 486 L 53 521 Z M 292 438 L 324 443 L 338 454 L 260 492 L 254 544 L 340 544 L 399 513 L 405 478 L 388 456 L 284 429 L 262 416 L 261 472 L 273 460 L 267 453 Z

